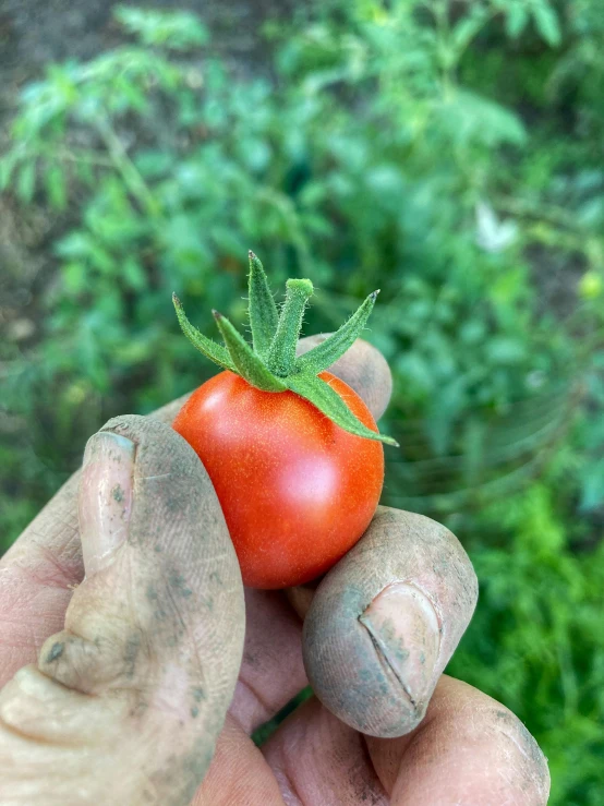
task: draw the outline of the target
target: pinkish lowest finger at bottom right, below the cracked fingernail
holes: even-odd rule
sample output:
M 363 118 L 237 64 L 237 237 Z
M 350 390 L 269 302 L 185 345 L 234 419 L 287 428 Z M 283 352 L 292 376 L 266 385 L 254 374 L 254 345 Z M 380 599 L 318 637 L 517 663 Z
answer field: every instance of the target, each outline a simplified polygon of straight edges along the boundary
M 500 702 L 446 675 L 410 736 L 367 736 L 366 743 L 392 806 L 547 803 L 547 760 L 522 722 Z

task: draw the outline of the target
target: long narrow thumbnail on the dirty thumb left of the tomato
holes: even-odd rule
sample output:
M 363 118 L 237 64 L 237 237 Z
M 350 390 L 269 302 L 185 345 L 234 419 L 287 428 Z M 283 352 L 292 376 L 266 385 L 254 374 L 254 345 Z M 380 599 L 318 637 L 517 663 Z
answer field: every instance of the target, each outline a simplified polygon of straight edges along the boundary
M 86 577 L 113 562 L 128 537 L 135 445 L 101 431 L 88 440 L 80 485 L 78 517 Z

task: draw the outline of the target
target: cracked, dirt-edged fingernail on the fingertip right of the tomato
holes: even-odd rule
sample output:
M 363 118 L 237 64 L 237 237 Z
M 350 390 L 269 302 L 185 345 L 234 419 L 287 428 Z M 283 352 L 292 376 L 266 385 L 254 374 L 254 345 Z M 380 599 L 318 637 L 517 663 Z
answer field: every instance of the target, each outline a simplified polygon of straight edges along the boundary
M 438 616 L 432 602 L 407 582 L 392 582 L 378 593 L 360 622 L 407 693 L 421 710 L 434 688 L 440 648 Z

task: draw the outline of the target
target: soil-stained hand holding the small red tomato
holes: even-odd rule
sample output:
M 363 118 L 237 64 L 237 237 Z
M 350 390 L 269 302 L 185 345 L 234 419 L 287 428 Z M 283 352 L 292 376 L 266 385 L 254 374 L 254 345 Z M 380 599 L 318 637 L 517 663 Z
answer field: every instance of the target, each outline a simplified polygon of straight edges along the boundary
M 336 366 L 377 416 L 382 362 Z M 545 804 L 523 725 L 442 674 L 476 598 L 454 536 L 380 507 L 316 591 L 244 592 L 180 405 L 109 421 L 0 564 L 0 804 Z M 261 751 L 306 673 L 330 710 Z

